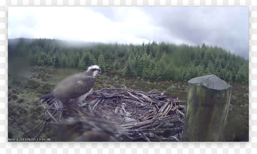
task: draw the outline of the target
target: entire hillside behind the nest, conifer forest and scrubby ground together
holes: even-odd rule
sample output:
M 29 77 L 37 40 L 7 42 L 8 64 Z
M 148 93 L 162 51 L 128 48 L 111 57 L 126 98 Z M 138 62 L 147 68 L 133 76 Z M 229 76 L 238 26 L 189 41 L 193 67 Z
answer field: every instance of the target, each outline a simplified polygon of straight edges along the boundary
M 39 125 L 41 110 L 35 102 L 63 78 L 90 65 L 100 66 L 103 72 L 94 88 L 166 90 L 180 100 L 186 100 L 188 80 L 214 74 L 233 87 L 224 138 L 248 141 L 248 58 L 204 42 L 196 46 L 154 40 L 107 44 L 47 38 L 8 39 L 8 137 L 21 137 Z M 30 133 L 39 131 L 37 127 Z M 52 129 L 41 137 L 49 132 Z

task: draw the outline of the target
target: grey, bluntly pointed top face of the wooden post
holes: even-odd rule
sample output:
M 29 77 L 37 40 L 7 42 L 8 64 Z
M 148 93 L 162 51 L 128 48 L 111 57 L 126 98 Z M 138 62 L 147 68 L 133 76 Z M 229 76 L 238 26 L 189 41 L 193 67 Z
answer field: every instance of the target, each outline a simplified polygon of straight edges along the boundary
M 192 78 L 188 81 L 188 83 L 200 84 L 206 88 L 214 90 L 225 90 L 230 88 L 230 85 L 228 85 L 225 81 L 221 80 L 218 76 L 213 74 Z

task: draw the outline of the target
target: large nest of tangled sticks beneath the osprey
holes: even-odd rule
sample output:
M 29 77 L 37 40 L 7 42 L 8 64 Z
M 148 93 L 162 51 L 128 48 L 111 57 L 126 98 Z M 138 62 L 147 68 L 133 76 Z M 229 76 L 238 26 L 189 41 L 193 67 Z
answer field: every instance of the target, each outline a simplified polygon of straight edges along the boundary
M 44 121 L 37 137 L 51 123 L 58 127 L 57 141 L 178 141 L 185 111 L 180 102 L 185 101 L 165 93 L 103 88 L 94 89 L 82 104 L 42 104 Z M 114 113 L 122 103 L 129 117 Z

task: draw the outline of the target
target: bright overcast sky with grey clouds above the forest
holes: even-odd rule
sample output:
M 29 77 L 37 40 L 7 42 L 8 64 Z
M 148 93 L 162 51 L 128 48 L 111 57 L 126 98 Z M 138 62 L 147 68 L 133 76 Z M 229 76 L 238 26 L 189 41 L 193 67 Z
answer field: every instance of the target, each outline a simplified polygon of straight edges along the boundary
M 248 7 L 8 7 L 8 38 L 205 42 L 249 57 Z

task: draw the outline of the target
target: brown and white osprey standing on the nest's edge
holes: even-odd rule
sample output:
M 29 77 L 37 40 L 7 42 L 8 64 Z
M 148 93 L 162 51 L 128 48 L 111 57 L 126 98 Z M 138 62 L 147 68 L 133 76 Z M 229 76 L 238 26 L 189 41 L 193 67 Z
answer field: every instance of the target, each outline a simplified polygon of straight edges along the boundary
M 97 74 L 102 75 L 101 69 L 97 65 L 91 65 L 87 71 L 65 78 L 53 92 L 40 99 L 49 105 L 59 99 L 65 102 L 75 99 L 76 103 L 81 103 L 92 92 Z

